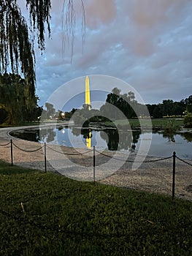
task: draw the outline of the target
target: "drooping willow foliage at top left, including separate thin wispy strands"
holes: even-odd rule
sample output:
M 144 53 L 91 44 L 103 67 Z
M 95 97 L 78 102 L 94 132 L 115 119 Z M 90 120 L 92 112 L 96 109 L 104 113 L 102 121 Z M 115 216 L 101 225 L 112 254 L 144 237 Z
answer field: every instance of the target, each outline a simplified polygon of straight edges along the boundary
M 82 28 L 85 25 L 85 11 L 82 0 Z M 50 0 L 26 0 L 30 23 L 22 15 L 17 0 L 0 1 L 0 73 L 7 69 L 24 76 L 31 91 L 35 91 L 34 43 L 45 50 L 45 32 L 50 35 Z M 64 45 L 69 43 L 73 53 L 75 10 L 73 0 L 63 2 Z M 82 29 L 85 38 L 85 29 Z

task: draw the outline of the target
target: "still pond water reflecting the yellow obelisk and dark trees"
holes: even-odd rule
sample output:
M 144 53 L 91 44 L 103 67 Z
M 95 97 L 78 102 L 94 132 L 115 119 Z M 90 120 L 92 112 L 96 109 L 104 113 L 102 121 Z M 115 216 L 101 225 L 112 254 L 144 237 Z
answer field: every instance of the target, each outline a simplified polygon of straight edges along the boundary
M 102 149 L 107 148 L 110 151 L 137 151 L 141 140 L 146 139 L 145 133 L 141 134 L 140 130 L 104 129 L 96 131 L 77 127 L 58 127 L 57 129 L 45 127 L 41 130 L 20 129 L 12 132 L 11 135 L 24 140 L 58 143 L 70 147 L 91 148 L 91 146 L 96 146 Z M 169 155 L 174 150 L 180 154 L 191 155 L 191 143 L 191 133 L 153 132 L 149 154 L 165 156 L 166 151 Z

